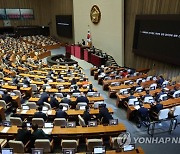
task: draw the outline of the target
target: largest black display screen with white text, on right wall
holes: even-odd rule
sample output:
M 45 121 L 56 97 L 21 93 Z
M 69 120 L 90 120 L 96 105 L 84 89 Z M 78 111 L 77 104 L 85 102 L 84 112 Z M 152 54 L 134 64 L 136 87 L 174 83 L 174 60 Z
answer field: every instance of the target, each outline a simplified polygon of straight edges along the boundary
M 180 65 L 180 15 L 137 15 L 133 51 Z

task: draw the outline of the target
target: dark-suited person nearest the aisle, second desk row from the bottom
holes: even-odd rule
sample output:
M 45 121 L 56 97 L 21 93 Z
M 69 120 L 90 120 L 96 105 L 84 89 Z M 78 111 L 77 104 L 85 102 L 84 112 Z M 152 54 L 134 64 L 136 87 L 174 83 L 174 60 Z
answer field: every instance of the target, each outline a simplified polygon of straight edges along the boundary
M 109 120 L 113 119 L 112 115 L 109 113 L 106 108 L 106 104 L 99 105 L 99 115 L 98 119 L 102 120 L 102 124 L 109 124 Z

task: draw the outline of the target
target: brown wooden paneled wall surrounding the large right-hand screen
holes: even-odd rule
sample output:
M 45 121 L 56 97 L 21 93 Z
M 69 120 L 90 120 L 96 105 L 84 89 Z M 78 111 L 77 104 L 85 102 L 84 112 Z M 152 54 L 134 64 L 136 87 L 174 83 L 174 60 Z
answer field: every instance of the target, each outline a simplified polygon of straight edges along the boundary
M 163 74 L 166 78 L 176 78 L 180 81 L 180 67 L 137 56 L 132 52 L 135 16 L 137 14 L 180 14 L 180 0 L 125 0 L 124 25 L 125 66 L 152 68 L 152 74 Z

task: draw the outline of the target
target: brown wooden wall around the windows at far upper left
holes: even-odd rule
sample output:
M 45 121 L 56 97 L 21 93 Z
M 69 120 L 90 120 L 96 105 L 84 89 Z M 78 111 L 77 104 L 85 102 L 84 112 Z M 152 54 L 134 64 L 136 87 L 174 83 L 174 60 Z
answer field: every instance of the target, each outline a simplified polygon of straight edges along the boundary
M 32 8 L 34 10 L 34 19 L 10 20 L 12 26 L 20 25 L 44 25 L 50 23 L 51 0 L 0 0 L 0 8 Z M 3 20 L 0 20 L 2 27 Z

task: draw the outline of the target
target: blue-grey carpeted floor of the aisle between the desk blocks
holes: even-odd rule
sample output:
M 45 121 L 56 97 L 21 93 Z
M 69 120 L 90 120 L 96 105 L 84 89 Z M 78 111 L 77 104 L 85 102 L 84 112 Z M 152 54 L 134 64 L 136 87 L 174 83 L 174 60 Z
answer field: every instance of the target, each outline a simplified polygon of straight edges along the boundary
M 56 55 L 56 54 L 64 54 L 65 53 L 65 49 L 64 48 L 60 48 L 60 49 L 55 49 L 52 50 L 52 55 Z M 75 57 L 71 57 L 72 59 L 78 61 L 79 65 L 84 69 L 84 73 L 88 76 L 89 80 L 92 82 L 93 86 L 95 88 L 97 88 L 97 90 L 101 93 L 101 95 L 104 97 L 105 99 L 105 103 L 107 104 L 108 107 L 113 108 L 114 110 L 114 114 L 113 117 L 114 118 L 118 118 L 120 123 L 123 123 L 126 128 L 127 131 L 130 132 L 131 134 L 131 139 L 132 139 L 132 143 L 135 142 L 134 137 L 137 139 L 137 137 L 150 137 L 147 134 L 147 128 L 146 127 L 141 127 L 140 129 L 136 127 L 136 125 L 134 123 L 132 123 L 131 121 L 129 121 L 126 117 L 126 111 L 124 109 L 121 108 L 117 108 L 116 107 L 116 98 L 109 98 L 108 97 L 108 93 L 106 91 L 102 90 L 102 86 L 98 85 L 97 80 L 94 80 L 94 78 L 92 76 L 90 76 L 90 68 L 92 67 L 92 65 L 90 63 L 87 63 L 83 60 L 77 59 Z M 164 133 L 160 133 L 163 132 L 165 130 L 167 130 L 167 124 L 169 122 L 163 122 L 162 126 L 157 124 L 158 129 L 158 134 L 155 134 L 154 137 L 159 137 L 159 139 L 161 137 L 180 137 L 180 127 L 177 127 L 176 130 L 174 130 L 172 132 L 172 134 L 169 134 L 168 132 L 164 132 Z M 156 131 L 157 132 L 157 131 Z M 143 139 L 140 140 L 140 143 L 136 143 L 136 146 L 141 146 L 143 148 L 143 150 L 145 151 L 146 154 L 179 154 L 180 153 L 180 142 L 177 144 L 172 144 L 172 143 L 142 143 Z

